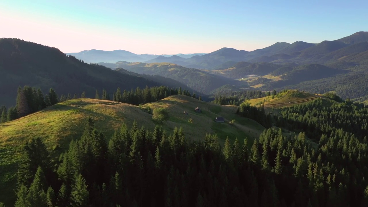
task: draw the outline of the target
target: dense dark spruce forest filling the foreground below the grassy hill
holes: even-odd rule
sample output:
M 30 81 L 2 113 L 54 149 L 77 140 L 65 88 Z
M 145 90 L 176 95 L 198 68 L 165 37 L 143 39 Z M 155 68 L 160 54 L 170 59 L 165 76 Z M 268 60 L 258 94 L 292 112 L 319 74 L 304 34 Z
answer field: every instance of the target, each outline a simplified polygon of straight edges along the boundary
M 40 139 L 25 145 L 15 206 L 367 206 L 367 140 L 342 130 L 320 140 L 270 128 L 251 149 L 247 138 L 222 148 L 216 135 L 190 142 L 134 123 L 107 143 L 88 119 L 56 161 Z

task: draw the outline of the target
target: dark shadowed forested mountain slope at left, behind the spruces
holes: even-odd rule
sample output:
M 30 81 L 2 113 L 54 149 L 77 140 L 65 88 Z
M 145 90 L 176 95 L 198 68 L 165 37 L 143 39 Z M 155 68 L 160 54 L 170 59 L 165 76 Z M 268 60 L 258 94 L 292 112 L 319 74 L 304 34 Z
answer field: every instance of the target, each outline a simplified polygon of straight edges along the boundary
M 66 56 L 56 48 L 20 39 L 0 39 L 0 93 L 2 104 L 13 105 L 18 86 L 30 85 L 59 94 L 81 94 L 94 97 L 96 89 L 105 88 L 110 94 L 146 85 L 160 85 L 143 77 L 119 73 L 107 67 L 87 64 Z

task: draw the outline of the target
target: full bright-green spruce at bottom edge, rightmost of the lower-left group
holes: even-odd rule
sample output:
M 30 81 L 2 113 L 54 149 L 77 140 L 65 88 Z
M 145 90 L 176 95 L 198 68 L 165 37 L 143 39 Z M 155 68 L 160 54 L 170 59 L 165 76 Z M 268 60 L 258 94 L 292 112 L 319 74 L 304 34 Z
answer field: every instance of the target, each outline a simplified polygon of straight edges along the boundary
M 75 176 L 75 184 L 71 191 L 71 206 L 87 206 L 89 203 L 89 192 L 86 182 L 81 174 Z

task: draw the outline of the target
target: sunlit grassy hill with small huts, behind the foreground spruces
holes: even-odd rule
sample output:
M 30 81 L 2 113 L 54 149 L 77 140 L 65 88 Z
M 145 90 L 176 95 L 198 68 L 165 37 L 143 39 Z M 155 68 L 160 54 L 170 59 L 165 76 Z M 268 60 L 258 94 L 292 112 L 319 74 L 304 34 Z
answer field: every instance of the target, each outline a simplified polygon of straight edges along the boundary
M 153 129 L 155 123 L 152 115 L 145 109 L 166 108 L 169 111 L 169 120 L 163 124 L 165 130 L 182 126 L 187 132 L 188 138 L 204 137 L 206 133 L 217 133 L 220 143 L 228 136 L 231 140 L 245 137 L 252 143 L 258 138 L 264 127 L 257 122 L 235 115 L 237 106 L 222 106 L 214 103 L 199 101 L 184 95 L 173 95 L 158 102 L 147 103 L 141 107 L 126 103 L 103 101 L 96 99 L 72 99 L 58 103 L 54 106 L 22 117 L 12 122 L 0 124 L 0 186 L 3 192 L 0 200 L 6 203 L 14 202 L 13 193 L 16 184 L 18 152 L 22 144 L 35 137 L 40 137 L 47 147 L 60 153 L 67 144 L 82 133 L 84 120 L 92 117 L 99 130 L 109 139 L 114 129 L 118 129 L 122 123 L 131 126 L 134 120 L 138 126 Z M 194 108 L 199 107 L 202 113 L 195 113 Z M 184 114 L 188 112 L 188 115 Z M 234 125 L 228 123 L 216 123 L 217 116 L 223 116 L 226 122 L 236 120 Z M 192 122 L 189 122 L 189 119 Z M 201 130 L 197 130 L 201 129 Z

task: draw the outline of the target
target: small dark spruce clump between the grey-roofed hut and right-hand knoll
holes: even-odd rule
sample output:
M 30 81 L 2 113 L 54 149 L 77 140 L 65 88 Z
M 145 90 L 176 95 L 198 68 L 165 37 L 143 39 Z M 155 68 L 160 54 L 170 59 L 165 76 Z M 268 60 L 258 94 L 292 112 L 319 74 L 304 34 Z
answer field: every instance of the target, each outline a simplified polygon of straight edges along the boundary
M 272 127 L 272 117 L 270 114 L 266 115 L 263 105 L 257 107 L 251 106 L 249 103 L 243 103 L 236 110 L 236 114 L 253 119 L 266 128 Z

